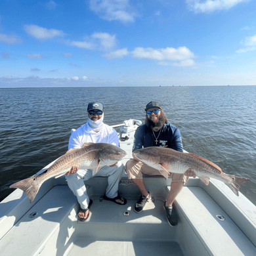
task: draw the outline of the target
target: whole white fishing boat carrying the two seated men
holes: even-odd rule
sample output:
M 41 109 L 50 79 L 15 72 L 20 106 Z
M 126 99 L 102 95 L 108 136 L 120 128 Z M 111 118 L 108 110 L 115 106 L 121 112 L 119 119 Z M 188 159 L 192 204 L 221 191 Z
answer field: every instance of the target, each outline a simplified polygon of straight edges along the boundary
M 120 146 L 127 152 L 124 164 L 132 158 L 140 123 L 129 119 L 114 126 L 120 126 Z M 85 222 L 77 220 L 79 205 L 64 177 L 45 181 L 32 203 L 14 190 L 0 203 L 0 255 L 256 255 L 256 206 L 242 193 L 237 197 L 217 180 L 206 186 L 190 178 L 176 200 L 179 224 L 171 227 L 163 209 L 171 181 L 144 182 L 153 200 L 138 214 L 133 207 L 140 192 L 125 173 L 119 192 L 126 205 L 102 200 L 106 177 L 85 181 L 93 199 Z

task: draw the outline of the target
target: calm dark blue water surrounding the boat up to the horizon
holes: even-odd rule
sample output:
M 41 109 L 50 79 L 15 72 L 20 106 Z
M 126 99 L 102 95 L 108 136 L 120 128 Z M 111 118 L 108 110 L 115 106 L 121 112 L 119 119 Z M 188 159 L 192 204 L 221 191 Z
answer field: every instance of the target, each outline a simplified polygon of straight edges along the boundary
M 104 122 L 114 125 L 144 121 L 144 107 L 156 100 L 179 127 L 184 149 L 251 179 L 240 191 L 256 204 L 255 99 L 255 86 L 0 89 L 0 200 L 13 182 L 68 150 L 88 102 L 102 102 Z

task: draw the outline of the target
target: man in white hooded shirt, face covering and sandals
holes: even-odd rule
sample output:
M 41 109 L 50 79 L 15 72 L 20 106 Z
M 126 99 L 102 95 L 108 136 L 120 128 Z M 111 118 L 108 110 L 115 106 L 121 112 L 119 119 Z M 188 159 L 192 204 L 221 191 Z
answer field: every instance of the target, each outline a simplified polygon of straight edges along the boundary
M 81 148 L 86 142 L 109 143 L 119 146 L 116 130 L 103 123 L 104 106 L 100 102 L 90 102 L 87 107 L 87 112 L 88 122 L 72 133 L 68 150 L 70 150 L 70 148 Z M 106 194 L 103 198 L 121 205 L 126 203 L 125 198 L 122 198 L 117 193 L 123 169 L 123 164 L 119 161 L 111 166 L 103 166 L 95 175 L 108 177 L 108 187 L 106 188 Z M 80 204 L 80 211 L 78 213 L 80 221 L 85 221 L 89 217 L 89 208 L 93 203 L 93 200 L 90 200 L 87 195 L 84 184 L 84 181 L 87 181 L 91 177 L 93 177 L 93 171 L 91 169 L 78 169 L 77 166 L 72 166 L 70 171 L 66 173 L 68 186 L 75 194 Z

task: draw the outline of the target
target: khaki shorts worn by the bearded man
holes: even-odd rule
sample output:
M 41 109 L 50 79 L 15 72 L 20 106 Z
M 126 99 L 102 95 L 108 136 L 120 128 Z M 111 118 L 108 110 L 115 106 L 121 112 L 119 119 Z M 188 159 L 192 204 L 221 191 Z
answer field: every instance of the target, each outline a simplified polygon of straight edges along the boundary
M 134 159 L 127 161 L 125 171 L 128 175 L 128 179 L 143 179 L 143 173 L 146 175 L 162 175 L 165 179 L 169 177 L 171 178 L 171 182 L 186 183 L 188 181 L 188 176 L 184 174 L 171 173 L 171 175 L 168 175 L 165 171 L 159 171 L 146 165 L 146 163 L 142 163 L 142 161 L 136 161 Z

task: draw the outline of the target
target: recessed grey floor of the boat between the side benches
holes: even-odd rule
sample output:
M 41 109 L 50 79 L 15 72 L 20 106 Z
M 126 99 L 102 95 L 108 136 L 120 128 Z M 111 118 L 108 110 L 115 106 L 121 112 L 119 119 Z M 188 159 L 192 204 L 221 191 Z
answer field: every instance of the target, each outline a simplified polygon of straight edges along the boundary
M 163 202 L 150 201 L 141 213 L 135 213 L 136 202 L 117 205 L 93 199 L 89 219 L 74 225 L 76 238 L 65 255 L 183 255 Z

